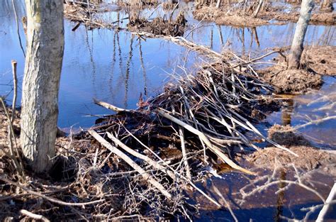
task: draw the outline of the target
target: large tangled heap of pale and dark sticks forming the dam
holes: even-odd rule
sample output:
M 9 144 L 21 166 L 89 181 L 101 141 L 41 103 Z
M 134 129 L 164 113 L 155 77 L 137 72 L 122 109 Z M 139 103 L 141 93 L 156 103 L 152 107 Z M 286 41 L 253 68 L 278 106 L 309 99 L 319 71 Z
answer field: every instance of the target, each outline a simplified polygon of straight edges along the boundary
M 95 100 L 116 114 L 97 120 L 89 135 L 126 162 L 129 170 L 138 172 L 166 203 L 176 202 L 175 195 L 191 187 L 223 207 L 194 182 L 204 169 L 223 162 L 235 171 L 254 174 L 233 158 L 237 150 L 258 149 L 245 131 L 291 152 L 264 137 L 252 124 L 256 122 L 250 117 L 252 111 L 267 101 L 271 88 L 247 67 L 241 69 L 244 71 L 236 67 L 232 62 L 213 63 L 196 75 L 176 77 L 162 94 L 147 101 L 141 97 L 136 110 Z M 167 150 L 179 155 L 167 157 Z M 187 212 L 186 201 L 182 198 L 179 203 L 179 209 Z

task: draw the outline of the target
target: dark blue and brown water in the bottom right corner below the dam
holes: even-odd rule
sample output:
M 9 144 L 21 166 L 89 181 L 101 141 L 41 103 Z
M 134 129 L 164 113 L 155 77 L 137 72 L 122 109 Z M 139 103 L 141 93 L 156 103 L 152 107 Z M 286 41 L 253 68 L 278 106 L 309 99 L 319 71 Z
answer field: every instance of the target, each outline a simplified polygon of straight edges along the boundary
M 271 173 L 262 169 L 258 172 L 261 175 Z M 223 206 L 227 206 L 226 203 L 228 203 L 238 221 L 288 221 L 287 218 L 302 220 L 307 213 L 303 211 L 304 208 L 323 203 L 312 192 L 307 192 L 298 186 L 286 187 L 287 184 L 284 182 L 257 192 L 241 203 L 240 189 L 250 184 L 253 178 L 236 172 L 226 172 L 220 174 L 220 177 L 211 177 L 198 184 L 198 187 L 202 187 L 203 192 Z M 319 173 L 312 174 L 312 177 L 315 189 L 323 196 L 327 196 L 330 192 L 330 184 L 334 183 L 333 178 Z M 280 170 L 279 179 L 291 180 L 293 174 Z M 234 221 L 227 208 L 218 209 L 197 193 L 190 195 L 191 199 L 200 204 L 200 215 L 196 217 L 197 221 Z M 308 221 L 317 218 L 319 211 L 311 213 Z M 336 213 L 332 213 L 332 210 L 325 218 L 326 221 L 335 221 L 335 219 Z

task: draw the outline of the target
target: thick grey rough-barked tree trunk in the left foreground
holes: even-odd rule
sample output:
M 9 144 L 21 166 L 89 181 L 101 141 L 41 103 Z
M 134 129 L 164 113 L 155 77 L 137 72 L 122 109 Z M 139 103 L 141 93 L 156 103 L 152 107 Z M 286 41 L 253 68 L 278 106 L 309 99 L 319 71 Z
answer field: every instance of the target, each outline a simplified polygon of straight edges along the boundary
M 21 146 L 35 172 L 55 156 L 58 91 L 64 51 L 63 1 L 26 0 L 27 55 L 22 90 Z

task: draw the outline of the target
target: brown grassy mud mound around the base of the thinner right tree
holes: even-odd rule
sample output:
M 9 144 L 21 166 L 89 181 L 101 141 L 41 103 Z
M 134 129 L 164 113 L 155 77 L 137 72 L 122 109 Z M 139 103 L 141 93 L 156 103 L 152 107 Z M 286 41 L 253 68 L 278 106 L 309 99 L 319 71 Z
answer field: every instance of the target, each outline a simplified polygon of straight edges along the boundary
M 303 50 L 301 70 L 286 70 L 286 61 L 279 55 L 274 58 L 277 65 L 259 72 L 266 82 L 274 85 L 277 93 L 304 93 L 323 84 L 321 75 L 336 74 L 335 53 L 335 46 L 308 46 Z

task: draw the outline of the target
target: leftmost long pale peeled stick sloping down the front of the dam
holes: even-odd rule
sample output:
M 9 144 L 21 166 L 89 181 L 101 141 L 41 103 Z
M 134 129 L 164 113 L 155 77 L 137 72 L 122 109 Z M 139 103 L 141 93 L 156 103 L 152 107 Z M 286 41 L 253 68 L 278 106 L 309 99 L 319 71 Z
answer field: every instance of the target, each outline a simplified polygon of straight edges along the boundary
M 159 184 L 159 182 L 157 182 L 155 179 L 151 178 L 150 174 L 148 174 L 147 172 L 145 172 L 145 170 L 143 170 L 138 164 L 136 164 L 132 159 L 130 159 L 130 157 L 128 157 L 127 155 L 125 155 L 123 152 L 121 152 L 121 150 L 118 150 L 118 148 L 116 148 L 115 146 L 113 146 L 110 143 L 108 143 L 104 138 L 101 137 L 101 135 L 99 135 L 95 131 L 89 131 L 89 133 L 99 143 L 101 143 L 101 145 L 103 145 L 104 147 L 106 147 L 108 150 L 110 150 L 111 152 L 113 152 L 115 155 L 118 155 L 118 157 L 121 157 L 121 159 L 123 159 L 125 162 L 127 162 L 128 165 L 130 165 L 130 167 L 132 167 L 134 170 L 137 170 L 141 174 L 141 176 L 144 179 L 147 180 L 147 182 L 149 182 L 155 188 L 157 188 L 159 190 L 159 192 L 161 192 L 164 196 L 167 197 L 167 199 L 172 199 L 172 195 L 169 194 L 169 192 L 167 192 L 167 190 L 162 186 L 162 184 Z

